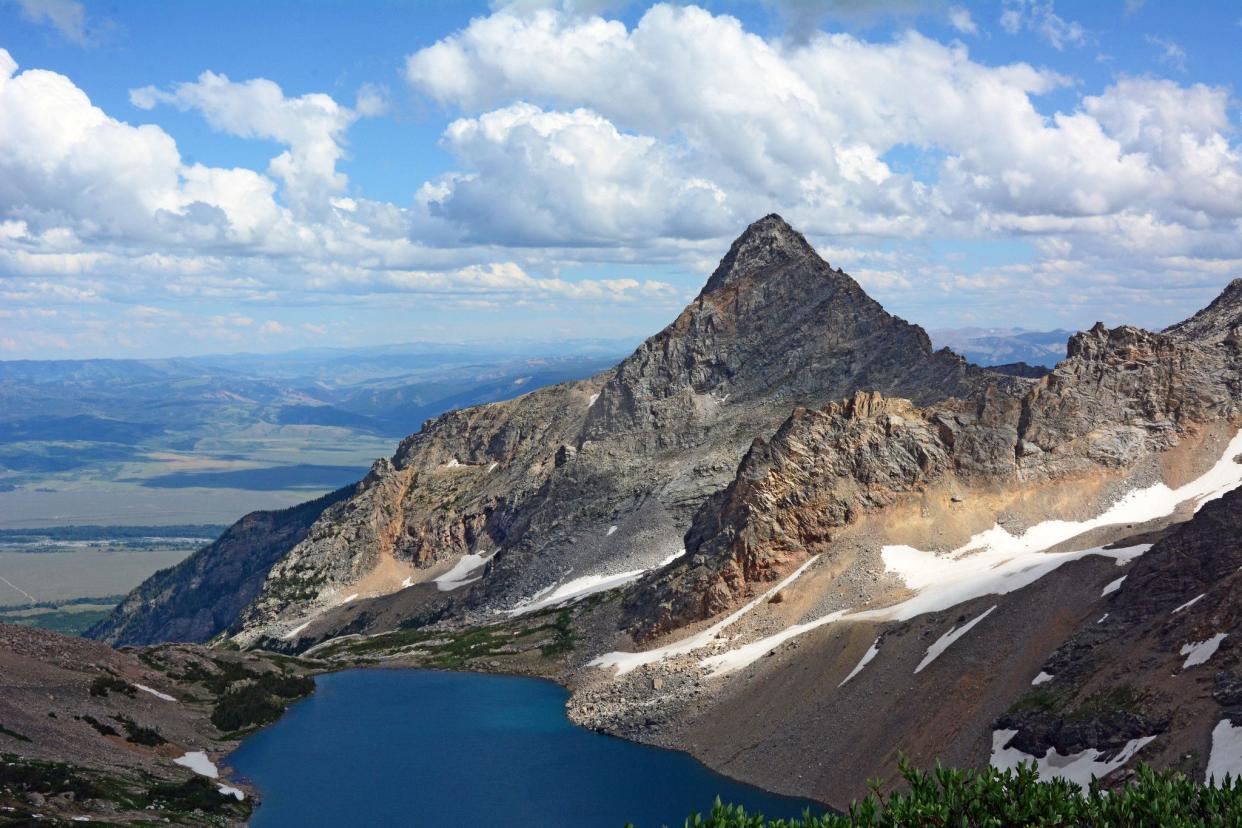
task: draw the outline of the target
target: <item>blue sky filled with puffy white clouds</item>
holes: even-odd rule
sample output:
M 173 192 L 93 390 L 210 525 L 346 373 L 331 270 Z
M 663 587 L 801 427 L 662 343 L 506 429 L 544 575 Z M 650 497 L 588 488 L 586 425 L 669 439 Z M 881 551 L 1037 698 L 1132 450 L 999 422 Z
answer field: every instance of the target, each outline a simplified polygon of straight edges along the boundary
M 777 211 L 929 328 L 1242 276 L 1232 2 L 0 0 L 0 359 L 635 336 Z

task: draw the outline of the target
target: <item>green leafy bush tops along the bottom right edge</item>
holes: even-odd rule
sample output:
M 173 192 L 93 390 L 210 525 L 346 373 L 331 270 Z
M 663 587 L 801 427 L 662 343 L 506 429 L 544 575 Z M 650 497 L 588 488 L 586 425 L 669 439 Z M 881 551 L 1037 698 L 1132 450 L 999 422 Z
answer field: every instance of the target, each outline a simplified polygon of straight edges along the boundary
M 1220 787 L 1199 785 L 1181 773 L 1140 765 L 1130 785 L 1105 791 L 1098 783 L 1083 791 L 1073 782 L 1041 782 L 1032 765 L 1017 771 L 958 771 L 938 767 L 922 772 L 902 763 L 909 791 L 878 792 L 850 807 L 846 814 L 766 821 L 739 806 L 717 799 L 712 812 L 694 814 L 686 828 L 1007 828 L 1010 826 L 1074 826 L 1130 828 L 1161 826 L 1242 826 L 1242 782 Z

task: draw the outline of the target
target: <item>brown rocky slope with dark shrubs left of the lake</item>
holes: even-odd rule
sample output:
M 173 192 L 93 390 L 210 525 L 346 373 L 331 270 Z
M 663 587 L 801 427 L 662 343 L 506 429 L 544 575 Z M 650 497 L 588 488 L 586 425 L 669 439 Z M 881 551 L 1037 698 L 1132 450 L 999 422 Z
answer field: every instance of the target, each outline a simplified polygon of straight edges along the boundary
M 255 792 L 220 758 L 310 693 L 314 667 L 0 624 L 0 824 L 245 824 Z

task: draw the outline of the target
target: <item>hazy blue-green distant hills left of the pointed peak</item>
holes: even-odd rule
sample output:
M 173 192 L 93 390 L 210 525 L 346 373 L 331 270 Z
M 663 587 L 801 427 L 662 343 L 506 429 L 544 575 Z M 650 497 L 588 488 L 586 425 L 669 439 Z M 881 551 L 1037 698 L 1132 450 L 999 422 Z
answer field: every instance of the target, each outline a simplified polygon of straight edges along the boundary
M 411 343 L 0 361 L 0 492 L 56 484 L 56 475 L 73 475 L 73 484 L 334 489 L 427 418 L 590 376 L 630 346 Z

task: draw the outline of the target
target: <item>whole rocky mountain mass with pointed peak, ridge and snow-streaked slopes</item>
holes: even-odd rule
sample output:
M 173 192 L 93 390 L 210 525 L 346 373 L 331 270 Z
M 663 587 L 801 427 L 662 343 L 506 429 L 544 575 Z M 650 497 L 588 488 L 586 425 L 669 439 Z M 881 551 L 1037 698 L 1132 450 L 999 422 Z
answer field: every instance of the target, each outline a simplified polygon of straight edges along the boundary
M 838 806 L 902 754 L 1242 768 L 1240 286 L 986 370 L 766 216 L 616 367 L 427 422 L 94 634 L 546 675 Z

